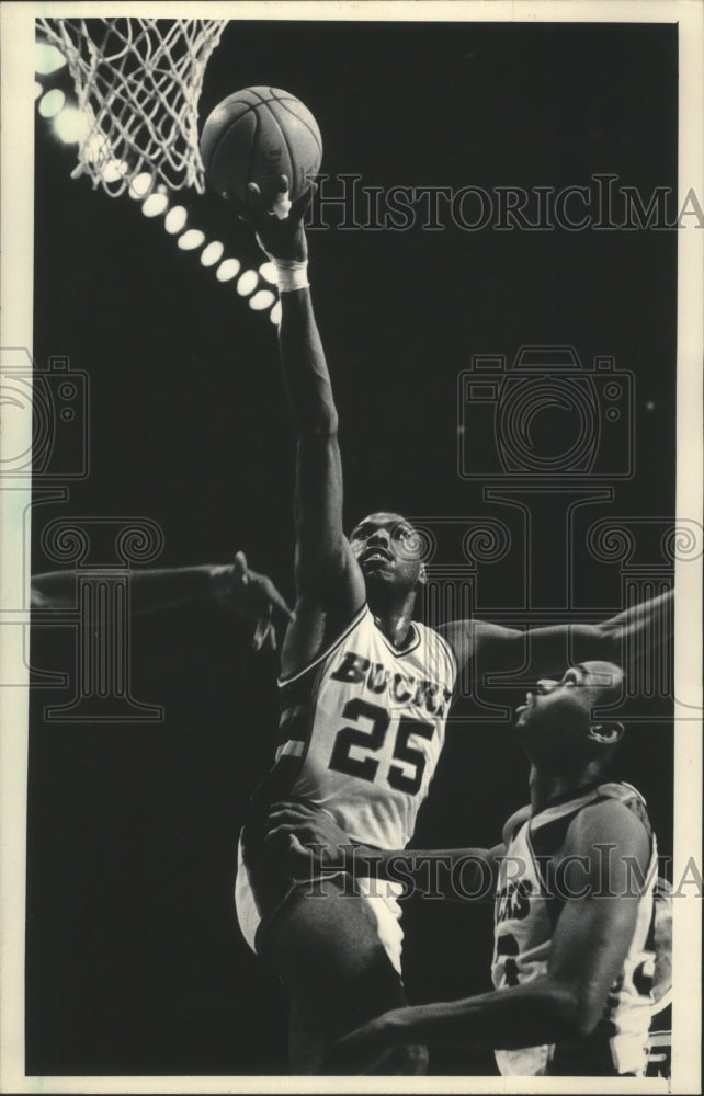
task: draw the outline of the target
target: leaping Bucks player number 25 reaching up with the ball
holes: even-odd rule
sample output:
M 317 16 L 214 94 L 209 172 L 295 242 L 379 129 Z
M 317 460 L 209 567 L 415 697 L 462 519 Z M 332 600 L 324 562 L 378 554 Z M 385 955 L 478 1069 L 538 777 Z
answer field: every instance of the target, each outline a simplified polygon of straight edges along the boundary
M 280 181 L 284 195 L 287 182 Z M 338 414 L 307 276 L 303 228 L 309 195 L 287 217 L 250 184 L 246 218 L 275 264 L 280 351 L 296 435 L 296 620 L 282 650 L 276 762 L 252 797 L 240 842 L 237 909 L 242 932 L 291 996 L 291 1065 L 315 1073 L 343 1032 L 400 1007 L 399 911 L 393 897 L 340 899 L 340 872 L 308 888 L 268 852 L 268 812 L 295 797 L 328 810 L 353 841 L 379 848 L 409 840 L 442 749 L 457 666 L 475 672 L 616 658 L 628 632 L 647 642 L 667 597 L 601 625 L 523 632 L 478 620 L 432 631 L 412 620 L 424 569 L 419 538 L 400 515 L 342 526 Z M 276 206 L 276 203 L 274 203 Z M 656 633 L 667 631 L 665 624 Z M 425 1050 L 391 1048 L 379 1073 L 419 1073 Z

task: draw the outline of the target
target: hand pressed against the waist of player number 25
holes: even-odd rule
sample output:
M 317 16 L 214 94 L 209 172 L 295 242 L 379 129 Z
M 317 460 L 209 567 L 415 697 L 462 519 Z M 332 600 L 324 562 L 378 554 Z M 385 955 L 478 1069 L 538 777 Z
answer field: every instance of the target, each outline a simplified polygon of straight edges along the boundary
M 331 814 L 307 803 L 274 803 L 269 811 L 265 844 L 288 860 L 294 877 L 311 870 L 342 869 L 344 850 L 352 845 Z

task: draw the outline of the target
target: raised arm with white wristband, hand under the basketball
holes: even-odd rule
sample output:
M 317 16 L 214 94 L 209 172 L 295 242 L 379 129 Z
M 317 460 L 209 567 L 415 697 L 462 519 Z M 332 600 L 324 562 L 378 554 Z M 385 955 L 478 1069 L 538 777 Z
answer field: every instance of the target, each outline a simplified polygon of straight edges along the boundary
M 282 195 L 286 187 L 283 175 Z M 285 217 L 262 205 L 257 184 L 250 184 L 249 195 L 245 219 L 274 262 L 279 276 L 280 355 L 297 445 L 294 516 L 298 624 L 286 639 L 287 673 L 299 669 L 337 635 L 362 606 L 365 592 L 343 533 L 338 412 L 308 286 L 303 218 L 311 192 L 294 202 Z

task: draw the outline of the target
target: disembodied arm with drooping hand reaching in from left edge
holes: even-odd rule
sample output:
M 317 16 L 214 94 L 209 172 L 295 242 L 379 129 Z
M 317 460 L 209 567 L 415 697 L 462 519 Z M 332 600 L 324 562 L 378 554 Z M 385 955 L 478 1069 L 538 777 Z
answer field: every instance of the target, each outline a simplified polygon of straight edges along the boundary
M 77 608 L 73 571 L 47 571 L 32 576 L 32 608 Z M 265 574 L 250 570 L 243 552 L 231 563 L 204 563 L 129 572 L 129 608 L 133 616 L 158 613 L 200 601 L 214 601 L 254 624 L 252 646 L 276 647 L 273 612 L 286 619 L 293 613 Z

